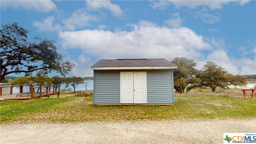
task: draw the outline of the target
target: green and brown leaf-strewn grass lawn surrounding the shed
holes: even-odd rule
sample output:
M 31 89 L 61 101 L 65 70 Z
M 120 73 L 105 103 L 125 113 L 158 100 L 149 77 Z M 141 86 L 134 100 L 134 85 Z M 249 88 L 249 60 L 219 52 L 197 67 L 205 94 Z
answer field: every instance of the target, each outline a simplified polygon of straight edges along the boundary
M 62 93 L 65 97 L 1 101 L 0 120 L 8 124 L 256 117 L 255 96 L 244 99 L 240 93 L 238 98 L 230 93 L 237 94 L 234 90 L 213 93 L 194 89 L 188 94 L 176 94 L 173 106 L 94 106 L 92 97 Z

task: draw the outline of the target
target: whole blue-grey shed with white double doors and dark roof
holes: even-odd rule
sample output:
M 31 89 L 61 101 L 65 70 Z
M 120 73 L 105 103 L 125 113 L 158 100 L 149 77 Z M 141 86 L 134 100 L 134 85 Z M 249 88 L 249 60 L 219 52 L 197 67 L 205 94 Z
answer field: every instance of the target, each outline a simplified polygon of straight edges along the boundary
M 100 60 L 91 66 L 93 104 L 172 105 L 174 68 L 164 58 Z

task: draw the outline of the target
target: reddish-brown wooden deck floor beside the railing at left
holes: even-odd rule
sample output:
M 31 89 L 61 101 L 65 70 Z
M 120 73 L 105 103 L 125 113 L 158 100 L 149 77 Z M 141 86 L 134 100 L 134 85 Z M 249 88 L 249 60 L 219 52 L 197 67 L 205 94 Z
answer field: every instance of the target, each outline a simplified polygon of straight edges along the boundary
M 8 99 L 8 100 L 28 100 L 31 99 L 31 95 L 30 96 L 17 96 L 17 94 L 20 93 L 15 93 L 15 94 L 4 94 L 2 96 L 0 96 L 0 98 L 4 98 L 4 99 Z M 49 97 L 52 95 L 56 95 L 58 94 L 58 92 L 48 92 L 48 96 L 46 96 L 46 94 L 42 95 L 41 98 L 43 97 Z M 40 98 L 40 94 L 34 94 L 34 98 Z

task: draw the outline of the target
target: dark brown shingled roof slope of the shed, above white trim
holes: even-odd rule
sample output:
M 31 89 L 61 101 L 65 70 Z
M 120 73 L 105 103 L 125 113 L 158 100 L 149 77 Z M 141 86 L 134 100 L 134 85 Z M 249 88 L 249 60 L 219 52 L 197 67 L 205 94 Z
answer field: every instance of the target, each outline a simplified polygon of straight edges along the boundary
M 164 58 L 158 59 L 117 59 L 117 60 L 100 60 L 91 68 L 101 67 L 148 67 L 148 66 L 176 66 Z

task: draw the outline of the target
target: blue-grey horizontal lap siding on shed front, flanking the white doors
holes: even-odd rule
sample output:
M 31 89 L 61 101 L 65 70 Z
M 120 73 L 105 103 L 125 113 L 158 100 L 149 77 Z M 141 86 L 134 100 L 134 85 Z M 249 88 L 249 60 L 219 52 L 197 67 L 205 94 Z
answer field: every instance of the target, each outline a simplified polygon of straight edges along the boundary
M 174 103 L 172 70 L 94 70 L 94 104 L 120 104 L 120 72 L 147 72 L 148 104 Z

